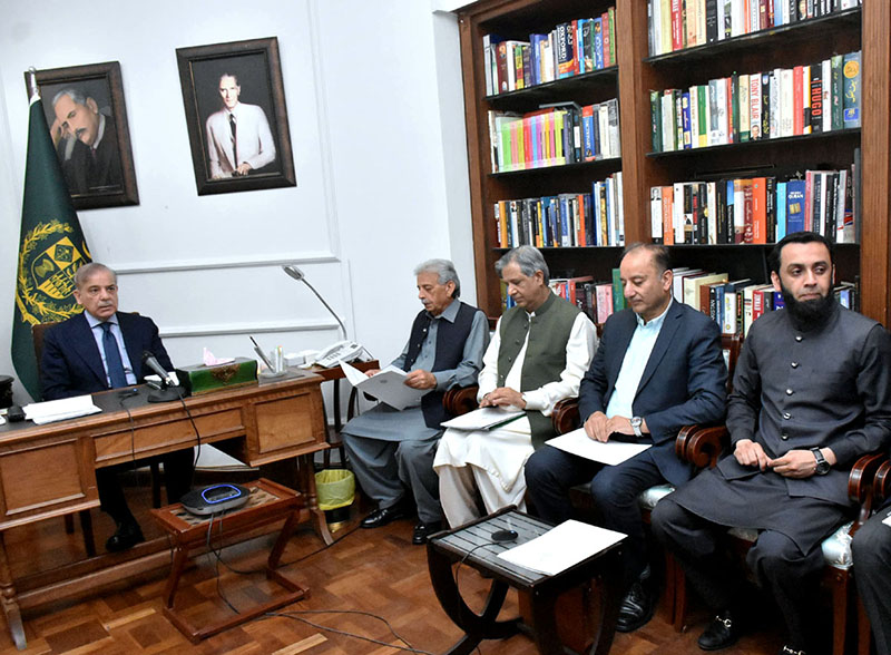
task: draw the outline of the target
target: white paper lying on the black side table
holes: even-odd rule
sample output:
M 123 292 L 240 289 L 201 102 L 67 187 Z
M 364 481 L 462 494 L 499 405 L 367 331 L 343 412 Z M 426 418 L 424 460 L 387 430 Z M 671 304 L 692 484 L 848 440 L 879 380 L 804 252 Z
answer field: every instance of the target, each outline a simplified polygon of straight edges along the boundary
M 581 521 L 564 521 L 498 557 L 529 570 L 549 576 L 557 575 L 625 539 L 626 535 L 598 528 Z

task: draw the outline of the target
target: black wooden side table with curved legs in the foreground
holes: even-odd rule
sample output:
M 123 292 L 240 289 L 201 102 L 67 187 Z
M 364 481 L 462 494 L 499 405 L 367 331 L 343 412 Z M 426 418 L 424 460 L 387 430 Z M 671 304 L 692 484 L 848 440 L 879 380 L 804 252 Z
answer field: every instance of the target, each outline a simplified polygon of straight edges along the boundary
M 552 526 L 508 507 L 464 527 L 441 532 L 427 542 L 427 559 L 433 589 L 446 614 L 464 630 L 464 636 L 447 655 L 468 655 L 482 639 L 503 639 L 520 629 L 529 632 L 542 655 L 565 655 L 568 648 L 560 639 L 555 607 L 558 599 L 597 578 L 593 592 L 597 598 L 587 616 L 591 634 L 587 642 L 593 645 L 591 655 L 606 655 L 613 645 L 621 600 L 620 544 L 589 557 L 555 576 L 521 568 L 498 558 L 498 554 L 525 544 L 547 532 Z M 518 532 L 516 541 L 496 544 L 491 539 L 496 530 L 510 529 Z M 467 564 L 492 578 L 486 606 L 481 614 L 474 613 L 464 603 L 456 584 L 452 565 Z M 498 614 L 509 587 L 515 587 L 526 605 L 527 625 L 520 618 L 498 620 Z M 589 604 L 586 603 L 586 608 Z M 588 623 L 587 620 L 585 623 Z

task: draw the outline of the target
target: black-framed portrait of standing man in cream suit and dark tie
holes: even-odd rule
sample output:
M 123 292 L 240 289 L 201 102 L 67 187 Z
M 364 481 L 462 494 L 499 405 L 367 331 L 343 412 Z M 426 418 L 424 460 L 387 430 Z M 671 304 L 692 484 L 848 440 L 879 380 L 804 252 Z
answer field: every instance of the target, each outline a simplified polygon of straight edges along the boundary
M 177 48 L 198 195 L 295 186 L 278 39 Z

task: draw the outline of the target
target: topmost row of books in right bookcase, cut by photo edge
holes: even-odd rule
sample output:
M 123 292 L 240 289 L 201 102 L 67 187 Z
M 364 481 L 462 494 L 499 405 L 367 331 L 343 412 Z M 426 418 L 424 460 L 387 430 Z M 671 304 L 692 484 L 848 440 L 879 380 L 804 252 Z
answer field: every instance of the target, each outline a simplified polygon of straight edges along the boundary
M 862 0 L 647 0 L 649 55 L 822 18 Z

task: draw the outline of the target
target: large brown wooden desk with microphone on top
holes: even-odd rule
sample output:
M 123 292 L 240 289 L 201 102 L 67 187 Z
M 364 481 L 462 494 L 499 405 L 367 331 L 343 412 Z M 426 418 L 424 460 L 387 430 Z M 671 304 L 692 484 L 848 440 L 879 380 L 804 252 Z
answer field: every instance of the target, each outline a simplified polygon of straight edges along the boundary
M 98 507 L 96 468 L 192 448 L 199 442 L 196 430 L 200 443 L 216 443 L 251 466 L 300 458 L 307 506 L 301 520 L 314 518 L 324 538 L 327 525 L 319 509 L 311 461 L 313 453 L 327 448 L 321 382 L 312 373 L 291 372 L 182 403 L 150 404 L 145 388 L 129 398 L 107 391 L 94 394 L 101 413 L 47 426 L 0 427 L 0 604 L 16 645 L 26 645 L 20 608 L 165 566 L 169 551 L 160 539 L 13 585 L 3 531 Z

